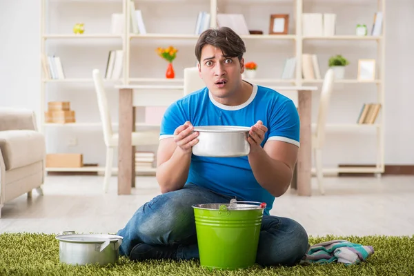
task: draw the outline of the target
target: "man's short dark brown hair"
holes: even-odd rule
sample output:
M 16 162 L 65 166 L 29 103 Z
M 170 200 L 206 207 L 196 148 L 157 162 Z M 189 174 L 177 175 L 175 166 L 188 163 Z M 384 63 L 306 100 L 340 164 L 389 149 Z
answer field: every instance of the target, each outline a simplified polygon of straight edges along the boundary
M 208 29 L 200 34 L 195 45 L 197 61 L 201 62 L 201 50 L 207 44 L 219 48 L 225 57 L 237 57 L 239 61 L 242 60 L 243 54 L 246 52 L 242 38 L 228 27 Z

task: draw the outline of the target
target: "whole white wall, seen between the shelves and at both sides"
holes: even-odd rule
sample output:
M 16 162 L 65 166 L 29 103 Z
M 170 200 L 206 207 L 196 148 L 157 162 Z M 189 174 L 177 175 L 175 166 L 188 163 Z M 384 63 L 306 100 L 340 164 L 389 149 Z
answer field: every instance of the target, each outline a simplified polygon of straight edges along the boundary
M 159 31 L 162 26 L 167 31 L 192 32 L 200 9 L 209 10 L 208 1 L 186 2 L 183 9 L 181 2 L 141 3 L 144 20 L 148 31 Z M 268 14 L 290 13 L 290 33 L 295 31 L 292 3 L 281 1 L 279 5 L 268 3 L 255 5 L 224 4 L 219 12 L 243 12 L 251 29 L 268 32 Z M 338 34 L 353 34 L 356 23 L 366 23 L 371 30 L 375 3 L 377 1 L 351 1 L 346 4 L 339 1 L 314 0 L 305 1 L 304 12 L 335 12 L 337 14 Z M 386 164 L 414 164 L 414 118 L 413 78 L 411 64 L 414 62 L 412 52 L 414 39 L 412 27 L 414 19 L 414 1 L 387 1 L 386 13 L 386 103 L 385 117 L 385 161 Z M 139 3 L 139 2 L 137 2 Z M 178 3 L 178 4 L 177 4 Z M 233 1 L 234 3 L 234 1 Z M 253 1 L 251 1 L 253 3 Z M 99 8 L 97 8 L 99 5 Z M 53 3 L 53 32 L 71 32 L 78 21 L 86 24 L 86 32 L 107 32 L 110 13 L 121 10 L 119 2 L 78 2 Z M 39 39 L 39 1 L 0 0 L 0 106 L 23 106 L 39 112 L 40 106 L 40 39 Z M 171 12 L 175 10 L 175 12 Z M 146 19 L 152 14 L 152 19 Z M 168 14 L 168 16 L 164 16 Z M 192 15 L 189 15 L 192 14 Z M 259 15 L 265 14 L 265 15 Z M 97 21 L 92 20 L 97 19 Z M 59 19 L 59 20 L 58 20 Z M 172 24 L 168 20 L 174 19 Z M 55 23 L 54 23 L 55 22 Z M 156 24 L 156 25 L 155 25 Z M 195 62 L 193 44 L 190 41 L 133 41 L 132 42 L 132 77 L 164 77 L 166 62 L 155 55 L 158 46 L 179 48 L 174 63 L 177 77 L 182 77 L 180 68 L 193 66 Z M 281 75 L 284 59 L 294 55 L 293 41 L 246 41 L 247 60 L 259 63 L 257 77 L 278 77 Z M 92 68 L 103 71 L 106 67 L 108 51 L 121 47 L 117 39 L 79 41 L 52 41 L 50 54 L 59 55 L 67 77 L 90 77 Z M 142 50 L 139 50 L 142 49 Z M 322 72 L 327 68 L 331 55 L 340 53 L 350 59 L 346 77 L 356 77 L 357 59 L 374 57 L 376 43 L 373 41 L 310 41 L 304 44 L 304 51 L 315 52 L 319 57 Z M 271 62 L 274 61 L 274 62 Z M 106 85 L 112 105 L 112 117 L 117 119 L 117 92 Z M 68 100 L 77 112 L 77 121 L 98 121 L 98 110 L 92 83 L 48 84 L 48 101 Z M 354 123 L 359 115 L 362 103 L 375 101 L 374 84 L 337 85 L 329 111 L 328 123 Z M 318 93 L 314 97 L 315 119 Z M 57 131 L 59 130 L 59 131 Z M 82 152 L 86 163 L 104 164 L 105 155 L 101 130 L 99 128 L 48 128 L 48 150 L 50 152 Z M 70 137 L 77 137 L 79 145 L 68 147 Z M 375 132 L 363 130 L 362 133 L 331 131 L 326 139 L 324 165 L 337 164 L 373 164 L 375 163 Z M 152 148 L 152 149 L 155 149 Z

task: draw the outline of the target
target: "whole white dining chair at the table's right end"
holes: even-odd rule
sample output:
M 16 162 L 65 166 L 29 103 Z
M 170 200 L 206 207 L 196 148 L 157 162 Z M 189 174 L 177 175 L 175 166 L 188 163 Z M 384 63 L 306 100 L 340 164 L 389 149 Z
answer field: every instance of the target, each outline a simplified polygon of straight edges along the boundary
M 315 158 L 315 170 L 317 176 L 317 184 L 319 186 L 319 192 L 324 195 L 323 184 L 323 166 L 322 166 L 322 148 L 325 142 L 325 128 L 326 128 L 326 115 L 328 114 L 329 101 L 331 99 L 333 91 L 333 82 L 335 75 L 332 69 L 329 69 L 324 76 L 324 83 L 322 84 L 321 96 L 319 99 L 319 108 L 317 111 L 316 130 L 313 133 L 312 148 Z

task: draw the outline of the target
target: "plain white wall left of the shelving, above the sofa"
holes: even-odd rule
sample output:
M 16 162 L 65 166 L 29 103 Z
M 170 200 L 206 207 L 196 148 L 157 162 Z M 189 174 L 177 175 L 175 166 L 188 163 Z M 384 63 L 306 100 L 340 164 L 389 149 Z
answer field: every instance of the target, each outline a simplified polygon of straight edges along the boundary
M 39 1 L 0 0 L 0 106 L 39 111 Z

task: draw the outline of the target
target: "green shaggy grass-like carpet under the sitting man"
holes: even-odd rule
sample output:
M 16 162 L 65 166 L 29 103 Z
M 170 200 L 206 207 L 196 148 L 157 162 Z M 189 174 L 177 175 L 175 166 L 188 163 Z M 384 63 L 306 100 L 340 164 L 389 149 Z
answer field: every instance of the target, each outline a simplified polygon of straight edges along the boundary
M 121 257 L 119 264 L 69 266 L 59 263 L 59 241 L 55 235 L 0 234 L 0 275 L 414 275 L 413 237 L 311 237 L 310 244 L 346 239 L 371 245 L 375 253 L 357 265 L 312 264 L 308 266 L 214 271 L 201 268 L 199 262 L 130 262 Z

